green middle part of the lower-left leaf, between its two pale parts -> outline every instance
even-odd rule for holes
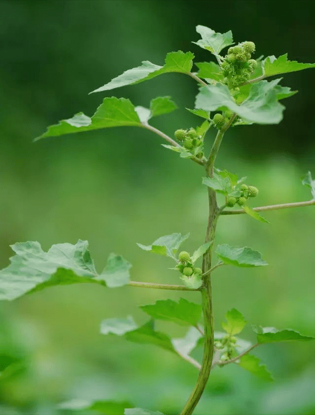
[[[148,343],[154,344],[156,346],[161,347],[162,349],[166,349],[170,352],[176,353],[171,339],[167,334],[156,332],[154,330],[154,323],[153,321],[149,321],[145,325],[139,327],[136,330],[131,332],[126,332],[124,337],[135,343]]]

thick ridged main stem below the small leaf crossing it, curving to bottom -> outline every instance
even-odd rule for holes
[[[205,242],[213,241],[215,227],[218,219],[218,206],[215,192],[208,188],[209,197],[209,217]],[[211,247],[203,255],[202,273],[208,273],[211,269]],[[213,312],[212,312],[212,293],[210,275],[203,278],[201,287],[202,311],[204,319],[204,349],[201,369],[197,379],[195,389],[189,397],[180,415],[191,415],[199,402],[202,392],[207,384],[213,359]]]

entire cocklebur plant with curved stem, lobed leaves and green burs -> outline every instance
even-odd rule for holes
[[[109,83],[95,89],[102,92],[119,86],[140,83],[158,75],[178,72],[197,81],[199,91],[194,109],[191,113],[203,121],[197,126],[184,129],[178,126],[174,138],[149,124],[153,117],[168,114],[177,108],[169,96],[160,96],[151,100],[150,108],[134,106],[129,99],[106,97],[90,118],[78,113],[70,119],[51,125],[37,139],[60,136],[80,131],[89,131],[114,126],[137,126],[156,133],[168,144],[166,149],[179,153],[181,158],[191,159],[204,169],[202,184],[208,192],[209,215],[205,242],[193,253],[180,251],[181,245],[189,237],[173,233],[158,238],[151,245],[138,244],[139,248],[148,252],[167,256],[173,261],[173,270],[177,273],[179,285],[145,283],[130,280],[131,264],[120,255],[111,253],[106,267],[98,273],[88,251],[86,241],[76,245],[53,245],[44,252],[38,242],[17,243],[12,246],[15,256],[11,264],[0,271],[0,298],[13,300],[21,295],[59,284],[94,283],[109,288],[129,285],[162,290],[198,291],[201,304],[192,303],[181,298],[158,300],[155,304],[142,306],[142,310],[150,316],[150,320],[139,327],[131,316],[126,319],[106,319],[101,323],[101,333],[116,334],[125,339],[150,343],[166,349],[194,365],[199,374],[196,386],[188,398],[181,415],[193,413],[207,383],[210,371],[215,366],[223,367],[235,363],[243,369],[267,381],[272,380],[265,365],[250,352],[260,344],[289,341],[312,340],[313,337],[302,335],[293,330],[276,330],[271,327],[253,327],[257,336],[255,344],[239,337],[246,325],[242,314],[235,308],[226,313],[226,322],[222,323],[223,332],[214,332],[211,277],[213,272],[226,265],[236,267],[266,266],[262,255],[248,247],[231,247],[228,244],[214,248],[216,225],[219,218],[225,215],[246,213],[256,220],[269,223],[259,212],[283,208],[315,205],[315,180],[311,172],[302,183],[311,190],[311,199],[306,202],[293,202],[281,205],[250,207],[251,201],[258,197],[259,190],[245,178],[238,178],[227,169],[215,166],[216,157],[225,132],[230,127],[249,124],[278,124],[282,120],[284,106],[280,100],[294,95],[279,83],[281,78],[267,81],[266,78],[302,69],[314,68],[315,64],[289,61],[287,55],[278,58],[268,56],[254,59],[256,46],[253,42],[241,42],[234,45],[232,32],[215,33],[205,26],[197,26],[201,36],[196,43],[210,52],[217,61],[195,63],[198,70],[192,72],[194,54],[192,52],[170,52],[166,55],[162,66],[149,61],[127,70]],[[234,46],[233,46],[234,45]],[[221,54],[228,48],[225,55]],[[206,133],[210,128],[217,130],[208,157],[204,155]],[[218,206],[217,195],[223,195],[224,202]],[[224,220],[224,218],[222,218]],[[213,254],[217,257],[212,264]],[[202,257],[202,267],[197,260]],[[203,314],[203,327],[200,324]],[[155,330],[154,321],[165,320],[189,327],[186,337],[171,339],[168,335]],[[202,362],[191,357],[197,345],[203,346]],[[92,409],[93,403],[85,409]],[[102,402],[102,410],[113,402]],[[162,415],[132,405],[117,403],[116,413],[124,415]],[[71,408],[69,406],[61,406]],[[112,408],[112,407],[111,407]],[[81,408],[82,409],[82,408]],[[211,410],[209,410],[211,414]]]

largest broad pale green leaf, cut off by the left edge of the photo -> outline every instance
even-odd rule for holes
[[[99,276],[87,241],[79,240],[76,245],[56,244],[48,252],[44,252],[38,242],[18,243],[11,247],[16,255],[10,258],[11,264],[0,271],[1,300],[13,300],[27,292],[55,285],[97,283],[105,286],[107,279],[110,287],[119,287],[128,282],[126,267],[130,268],[130,264],[115,254],[110,257],[111,261],[120,260],[112,261],[110,272]],[[122,263],[125,267],[123,275]]]

